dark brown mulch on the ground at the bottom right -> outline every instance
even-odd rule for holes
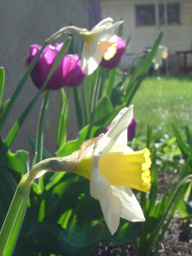
[[[134,244],[116,245],[100,242],[99,246],[90,256],[133,256]],[[154,250],[151,256],[154,255]],[[179,215],[175,215],[164,240],[160,243],[158,256],[190,256],[192,255],[192,228],[187,221],[181,221]]]

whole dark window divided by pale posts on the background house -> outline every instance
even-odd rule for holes
[[[159,23],[164,24],[164,5],[158,5]],[[155,25],[155,6],[154,4],[136,5],[135,6],[136,26]],[[180,24],[180,4],[167,4],[167,23]]]

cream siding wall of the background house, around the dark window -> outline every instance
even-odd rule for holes
[[[127,53],[137,53],[145,47],[152,46],[159,33],[163,32],[161,44],[169,48],[169,70],[178,72],[178,64],[181,57],[176,56],[179,50],[192,49],[192,0],[167,0],[167,3],[180,3],[180,24],[163,26],[136,26],[135,5],[154,4],[154,0],[101,0],[102,16],[112,17],[115,21],[123,18],[123,38],[131,35],[131,42]],[[158,0],[163,3],[163,0]],[[188,62],[192,63],[192,56],[188,56]]]

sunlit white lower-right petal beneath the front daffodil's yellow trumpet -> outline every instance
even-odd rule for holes
[[[129,187],[111,186],[111,189],[113,195],[116,195],[122,202],[121,218],[128,221],[145,221],[140,204]]]

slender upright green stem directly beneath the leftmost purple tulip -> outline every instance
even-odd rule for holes
[[[35,152],[37,152],[37,159],[36,163],[39,163],[42,161],[43,158],[43,128],[44,128],[44,119],[45,119],[45,113],[49,102],[49,90],[44,91],[44,100],[41,105],[41,111],[39,114],[39,120],[38,120],[38,129],[37,129],[37,140],[36,140],[36,148]]]

